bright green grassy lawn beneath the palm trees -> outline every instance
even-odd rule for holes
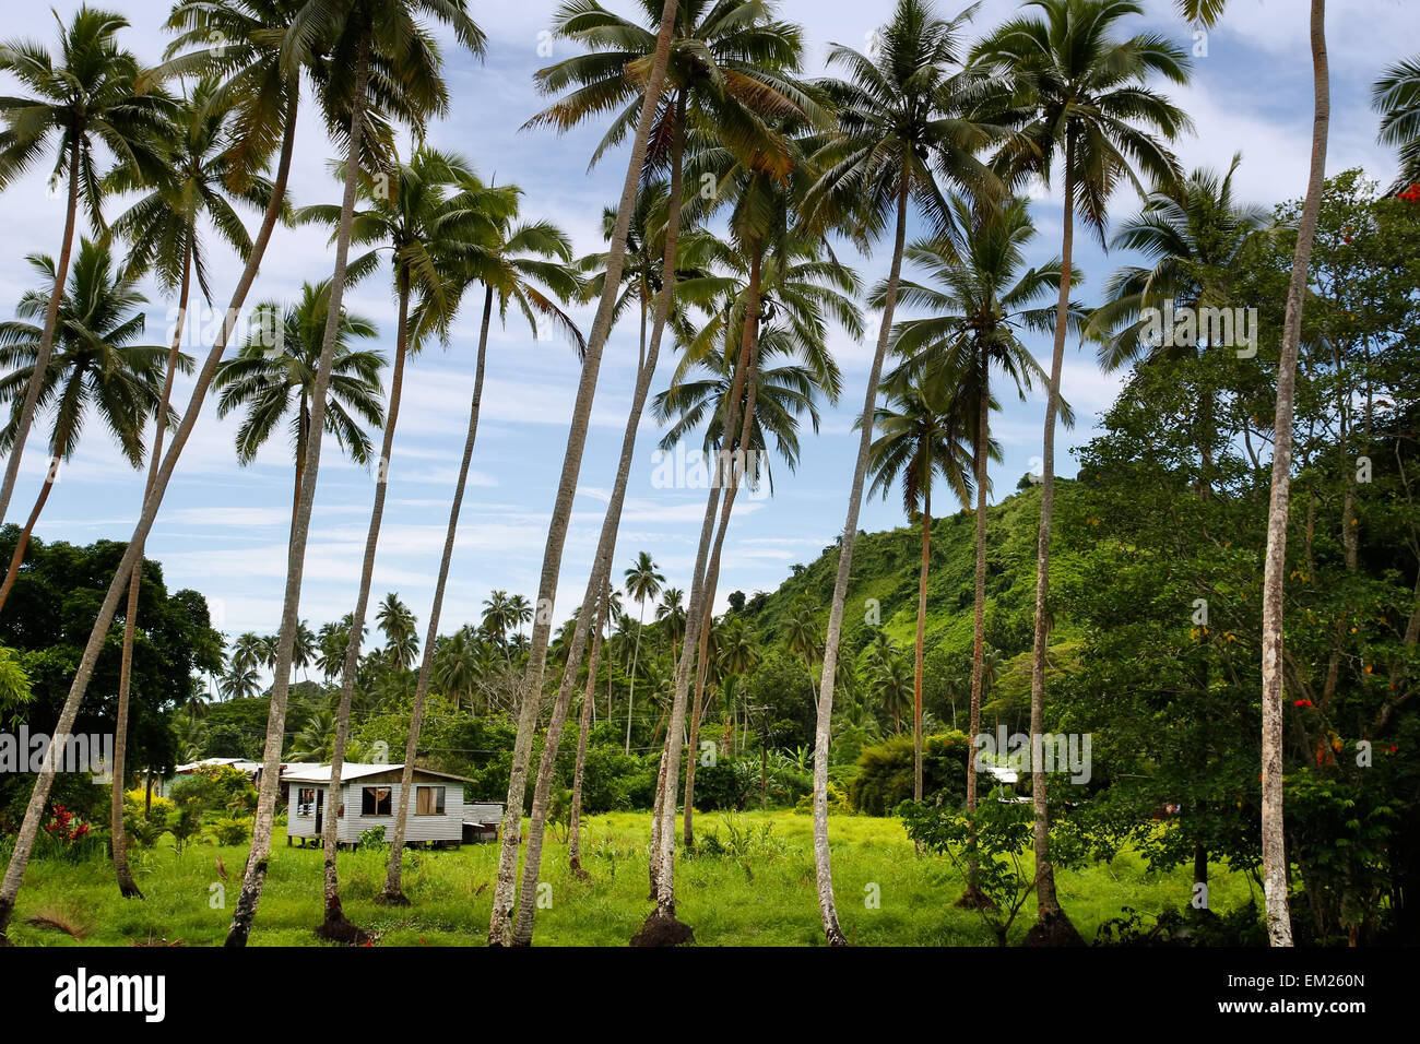
[[[648,812],[616,812],[591,818],[584,830],[588,882],[567,868],[567,847],[548,838],[544,881],[551,885],[551,908],[538,910],[540,945],[621,946],[649,910],[646,902]],[[677,855],[680,919],[694,928],[706,946],[798,946],[822,942],[814,891],[812,822],[792,812],[696,815],[696,834],[747,838],[743,855]],[[897,820],[834,817],[834,882],[839,918],[848,937],[868,946],[990,946],[994,936],[971,910],[953,902],[961,883],[940,857],[917,858]],[[187,946],[220,945],[236,902],[244,847],[190,845],[178,855],[168,838],[136,854],[135,871],[148,896],[125,901],[106,862],[36,861],[20,893],[11,939],[27,946],[126,946],[133,940],[180,939]],[[222,882],[217,858],[226,865]],[[386,946],[481,945],[488,926],[497,845],[466,845],[459,851],[406,855],[405,889],[413,906],[385,909],[372,898],[385,878],[385,854],[342,852],[339,857],[346,915],[378,935]],[[224,883],[227,909],[216,903],[213,886]],[[870,885],[878,909],[865,902]],[[1061,902],[1085,939],[1100,922],[1133,906],[1146,915],[1187,901],[1189,869],[1147,874],[1133,852],[1082,872],[1058,872]],[[1241,874],[1214,868],[1213,908],[1231,909],[1248,899]],[[55,912],[80,922],[82,940],[27,923]],[[321,854],[287,848],[278,828],[271,872],[263,893],[251,943],[256,946],[317,945],[311,928],[321,916]],[[1017,919],[1011,942],[1030,928],[1034,908]]]

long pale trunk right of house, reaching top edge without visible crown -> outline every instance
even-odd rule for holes
[[[666,67],[670,62],[670,40],[674,31],[676,0],[665,0],[660,13],[660,30],[656,36],[656,57],[650,77],[646,81],[646,95],[640,116],[636,121],[636,136],[632,142],[630,159],[626,163],[626,180],[622,183],[621,200],[616,205],[616,227],[606,254],[606,276],[602,298],[596,305],[591,337],[586,342],[586,357],[582,361],[582,376],[577,386],[577,403],[572,423],[567,435],[567,453],[562,459],[562,474],[558,480],[557,500],[552,504],[552,518],[547,531],[547,545],[542,551],[542,574],[538,580],[537,615],[532,622],[532,641],[528,649],[527,673],[523,682],[523,706],[518,709],[518,732],[513,744],[513,767],[508,774],[508,798],[503,817],[503,851],[498,855],[498,878],[493,889],[493,915],[488,920],[488,945],[503,946],[511,939],[514,893],[517,889],[518,842],[523,828],[523,800],[527,788],[528,763],[532,754],[532,733],[537,729],[538,703],[542,693],[542,672],[547,666],[547,643],[552,629],[552,599],[557,594],[557,580],[562,564],[562,545],[567,543],[567,527],[572,516],[572,499],[577,493],[577,479],[582,467],[582,450],[586,446],[586,429],[592,416],[592,399],[596,395],[596,376],[601,372],[602,349],[611,332],[612,310],[621,286],[622,266],[626,260],[626,233],[630,229],[630,214],[636,205],[636,186],[646,161],[646,142],[650,124],[660,105],[660,92],[666,81]]]

